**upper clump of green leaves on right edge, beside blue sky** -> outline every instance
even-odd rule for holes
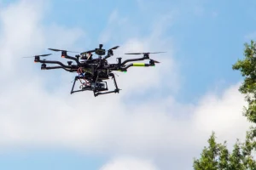
[[[256,43],[251,41],[245,43],[245,59],[238,59],[233,70],[241,71],[244,77],[239,91],[246,95],[247,107],[244,107],[243,115],[247,116],[250,122],[256,123]]]

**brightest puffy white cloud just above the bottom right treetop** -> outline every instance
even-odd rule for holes
[[[242,105],[246,105],[244,96],[238,91],[239,84],[224,91],[221,97],[208,94],[201,99],[200,107],[197,108],[195,121],[198,128],[209,132],[214,129],[221,139],[229,141],[236,136],[244,138],[247,129],[247,121],[241,116]],[[234,131],[233,128],[236,127]],[[233,139],[233,142],[234,139]]]

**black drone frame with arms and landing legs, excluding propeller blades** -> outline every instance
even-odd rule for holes
[[[112,50],[112,49],[110,49]],[[93,51],[92,51],[93,52]],[[112,51],[111,51],[112,52]],[[42,60],[40,59],[39,56],[35,56],[34,62],[35,63],[42,63],[41,65],[41,70],[53,70],[53,69],[63,69],[65,71],[69,71],[69,72],[75,72],[78,71],[80,67],[83,68],[88,68],[91,69],[92,75],[94,75],[95,71],[98,69],[98,66],[101,66],[102,70],[108,70],[110,71],[108,73],[108,77],[112,77],[113,79],[113,84],[115,86],[115,89],[112,91],[108,91],[108,83],[106,82],[106,90],[97,90],[96,86],[92,89],[80,89],[80,90],[73,90],[76,81],[78,81],[79,79],[84,79],[84,77],[79,77],[76,76],[74,78],[73,81],[73,88],[71,90],[71,94],[77,93],[77,92],[82,92],[82,91],[93,91],[94,96],[98,96],[98,95],[102,95],[102,94],[112,94],[112,93],[119,93],[119,88],[116,82],[116,79],[113,75],[113,73],[111,71],[127,71],[128,68],[130,68],[131,66],[154,66],[155,62],[159,63],[158,61],[155,61],[154,59],[149,59],[149,55],[148,53],[143,54],[143,57],[140,58],[135,58],[135,59],[126,59],[125,61],[122,62],[122,58],[117,58],[118,59],[118,63],[117,64],[108,64],[108,65],[101,65],[102,63],[104,63],[106,61],[106,59],[108,59],[109,57],[111,57],[113,55],[112,53],[109,53],[105,56],[105,57],[100,57],[97,59],[87,59],[84,60],[84,62],[80,62],[79,61],[79,57],[80,55],[76,55],[75,57],[69,56],[67,55],[67,51],[61,51],[61,57],[62,58],[66,58],[66,59],[72,59],[77,65],[72,65],[73,61],[67,61],[67,65],[64,65],[63,63],[61,63],[61,61],[55,61],[55,60]],[[149,59],[149,64],[146,63],[130,63],[130,62],[134,62],[134,61],[142,61],[145,59]],[[89,63],[92,62],[92,63]],[[95,63],[94,63],[95,62]],[[128,64],[130,63],[130,64]],[[46,64],[56,64],[59,66],[47,66]],[[95,65],[98,64],[98,65]],[[128,64],[128,65],[127,65]],[[99,75],[96,76],[96,82],[94,82],[95,84],[98,82],[98,78]],[[102,91],[108,91],[108,92],[102,92]]]

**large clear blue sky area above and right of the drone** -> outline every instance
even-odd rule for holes
[[[97,44],[113,10],[128,18],[142,37],[148,35],[154,18],[177,11],[172,25],[163,34],[173,39],[176,48],[174,58],[182,65],[184,82],[177,98],[191,101],[215,86],[225,88],[239,80],[240,75],[232,71],[231,65],[242,57],[243,43],[249,41],[245,37],[254,32],[255,5],[253,1],[142,1],[142,4],[137,1],[54,1],[45,22],[84,28],[90,44]],[[129,26],[113,27],[120,30],[116,43],[124,42],[129,35],[136,36],[134,32],[129,34]],[[125,34],[127,30],[128,36]],[[81,43],[83,41],[86,42],[82,39]]]

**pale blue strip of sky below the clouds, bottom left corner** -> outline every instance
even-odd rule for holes
[[[68,150],[32,150],[0,156],[1,169],[99,169],[105,158]]]

